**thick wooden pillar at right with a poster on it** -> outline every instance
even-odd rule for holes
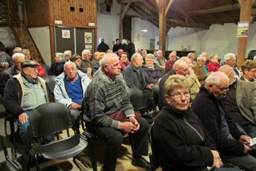
[[[238,0],[238,1],[241,6],[240,21],[250,22],[252,6],[255,0]],[[247,49],[247,39],[248,37],[238,37],[238,44],[237,44],[237,65],[238,66],[241,66],[241,64],[244,62],[246,49]]]

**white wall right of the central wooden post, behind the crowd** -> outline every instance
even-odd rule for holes
[[[248,53],[256,49],[256,23],[250,26]],[[168,33],[168,50],[182,50],[182,46],[187,50],[196,51],[197,55],[206,51],[209,55],[216,53],[223,57],[225,53],[237,53],[237,24],[214,24],[210,30],[200,30],[198,28],[171,28]]]

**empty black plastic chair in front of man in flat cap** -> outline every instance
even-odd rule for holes
[[[87,134],[77,134],[46,145],[33,145],[33,138],[43,138],[74,126],[69,109],[60,103],[51,102],[33,109],[28,133],[31,137],[31,150],[28,157],[28,170],[31,156],[35,159],[36,169],[40,170],[37,157],[45,159],[68,159],[76,156],[87,147]]]

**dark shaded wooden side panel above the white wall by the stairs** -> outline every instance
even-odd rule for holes
[[[50,24],[49,1],[26,0],[25,3],[28,27],[48,26]]]

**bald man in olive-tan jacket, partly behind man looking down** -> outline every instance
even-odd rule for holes
[[[235,78],[235,72],[228,65],[219,71],[228,75],[230,86],[223,98],[228,115],[238,123],[250,137],[256,137],[256,84]]]

